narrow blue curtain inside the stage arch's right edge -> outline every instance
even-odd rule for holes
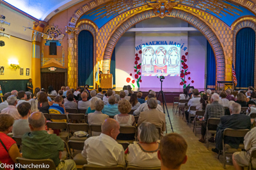
[[[207,89],[215,89],[216,84],[216,60],[210,43],[207,41]]]

